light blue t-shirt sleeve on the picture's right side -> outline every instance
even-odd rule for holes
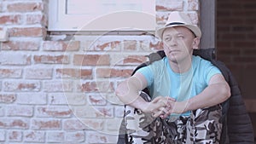
[[[206,71],[205,71],[204,75],[205,75],[205,79],[206,79],[207,84],[209,84],[212,76],[214,76],[215,74],[221,74],[218,67],[213,66],[210,61],[206,62],[205,68],[206,68]]]

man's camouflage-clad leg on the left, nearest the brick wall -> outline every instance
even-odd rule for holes
[[[143,97],[146,101],[150,98]],[[125,107],[127,139],[131,144],[172,144],[177,137],[177,122],[153,118],[134,107]]]

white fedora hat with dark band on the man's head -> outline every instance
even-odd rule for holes
[[[196,25],[193,25],[192,21],[189,19],[189,16],[187,14],[178,11],[173,11],[171,14],[169,14],[168,20],[166,21],[166,25],[156,31],[156,37],[160,37],[161,39],[165,29],[174,26],[187,27],[189,30],[191,30],[191,32],[194,32],[196,37],[201,37],[200,28]]]

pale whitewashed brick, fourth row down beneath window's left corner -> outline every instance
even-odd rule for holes
[[[72,81],[45,81],[44,91],[45,92],[63,92],[72,91],[73,83]]]

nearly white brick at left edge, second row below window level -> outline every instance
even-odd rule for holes
[[[25,54],[20,54],[20,53],[5,53],[1,52],[0,54],[0,63],[1,65],[6,65],[6,66],[26,66],[31,64],[31,56],[30,55],[25,55]],[[14,59],[15,57],[15,59]]]

